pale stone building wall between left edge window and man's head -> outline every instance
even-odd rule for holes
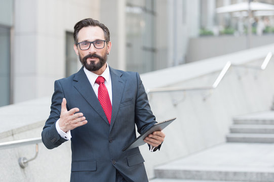
[[[76,22],[90,17],[100,18],[98,0],[15,0],[14,103],[52,93],[54,80],[65,76],[65,33],[73,32]]]

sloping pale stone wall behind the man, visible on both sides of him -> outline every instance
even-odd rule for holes
[[[232,64],[260,65],[274,44],[226,56],[142,74],[146,89],[166,86],[201,87],[212,85],[227,61]],[[149,95],[151,109],[158,121],[177,117],[164,129],[166,140],[161,151],[141,152],[149,178],[153,167],[225,142],[232,117],[269,110],[274,95],[274,58],[264,71],[231,67],[219,86],[211,92],[154,93]],[[240,77],[240,79],[239,79]],[[203,96],[210,94],[206,100]],[[176,106],[173,101],[177,101]],[[50,98],[0,108],[0,142],[40,136],[49,115]],[[37,159],[21,169],[19,157],[34,155],[34,145],[0,150],[0,171],[5,181],[68,181],[69,142],[54,150],[39,145]],[[45,173],[47,171],[47,173]],[[3,177],[4,176],[4,177]]]

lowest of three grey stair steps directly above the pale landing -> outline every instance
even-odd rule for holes
[[[241,143],[274,143],[274,134],[230,133],[226,135],[226,141]]]

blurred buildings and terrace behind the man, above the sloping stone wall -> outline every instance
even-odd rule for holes
[[[266,7],[251,15],[229,7],[247,2],[1,0],[0,106],[48,96],[54,80],[79,70],[72,35],[79,20],[110,29],[113,68],[145,73],[273,42],[274,2],[253,1]]]

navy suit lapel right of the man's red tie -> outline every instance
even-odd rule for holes
[[[112,113],[109,131],[111,131],[112,126],[116,120],[122,96],[125,89],[126,80],[122,79],[122,73],[109,67],[111,85],[112,85]]]

